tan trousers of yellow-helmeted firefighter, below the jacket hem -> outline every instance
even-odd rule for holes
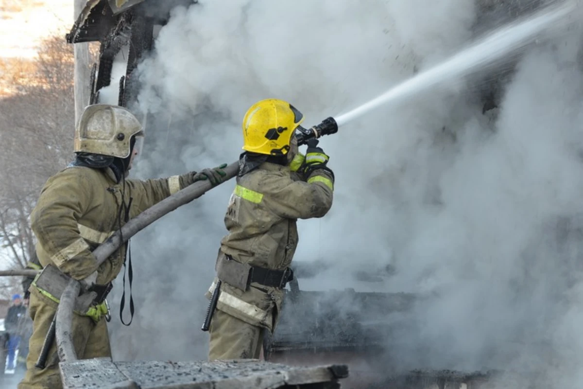
[[[259,359],[264,331],[264,328],[215,310],[209,328],[209,360]]]

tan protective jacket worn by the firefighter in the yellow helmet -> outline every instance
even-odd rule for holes
[[[223,281],[217,309],[272,331],[283,300],[282,289],[257,282],[246,290],[237,288],[229,281],[229,274],[222,275],[219,264],[227,258],[252,267],[286,269],[298,244],[296,220],[326,215],[332,198],[333,174],[325,169],[303,177],[291,172],[289,166],[264,162],[237,177],[224,218],[229,234],[221,241],[217,259],[217,276]],[[213,282],[207,297],[215,285]]]

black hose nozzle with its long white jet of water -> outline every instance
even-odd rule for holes
[[[543,30],[553,25],[560,25],[557,22],[572,15],[577,8],[578,1],[576,0],[554,2],[539,12],[500,27],[440,64],[399,83],[387,92],[347,113],[338,115],[336,118],[326,118],[321,124],[310,129],[298,127],[299,133],[296,135],[298,145],[305,144],[311,138],[335,134],[338,132],[338,127],[383,104],[406,99],[442,82],[466,76],[473,71],[491,65],[505,55],[524,48]]]

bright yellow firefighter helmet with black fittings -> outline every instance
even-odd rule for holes
[[[253,104],[243,119],[243,150],[266,155],[286,155],[291,137],[304,115],[290,103],[266,99]]]

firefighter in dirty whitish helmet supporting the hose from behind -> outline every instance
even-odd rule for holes
[[[41,191],[31,226],[38,240],[38,260],[46,274],[37,276],[29,288],[33,334],[27,371],[18,386],[21,389],[62,387],[56,342],[45,367],[35,366],[64,289],[51,275],[59,278],[62,272],[82,285],[72,327],[78,357],[110,357],[105,298],[124,265],[126,247],[99,267],[92,250],[129,219],[187,185],[198,180],[216,185],[225,176],[222,165],[170,178],[126,179],[138,153],[136,138],[141,135],[142,125],[127,109],[106,104],[87,107],[75,131],[75,160],[49,178]],[[98,293],[97,299],[83,299],[92,296],[86,293],[89,290]]]

